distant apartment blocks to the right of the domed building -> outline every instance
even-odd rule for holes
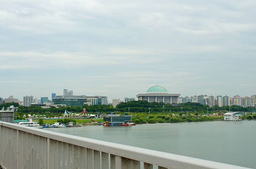
[[[207,95],[200,95],[200,96],[192,96],[192,97],[180,97],[179,103],[200,103],[200,104],[207,104],[210,107],[218,105],[219,107],[223,106],[243,106],[243,107],[256,107],[256,94],[251,97],[240,97],[238,95],[234,97],[225,96],[207,96]]]

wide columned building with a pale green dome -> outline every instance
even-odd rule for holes
[[[146,94],[138,94],[138,100],[146,100],[148,102],[164,102],[164,103],[179,103],[180,94],[168,94],[164,87],[159,85],[150,87]]]

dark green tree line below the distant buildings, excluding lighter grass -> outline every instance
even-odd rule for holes
[[[9,107],[10,105],[14,105],[15,107],[18,107],[18,111],[16,114],[54,114],[55,116],[61,115],[65,112],[65,109],[69,112],[74,113],[81,113],[82,110],[85,108],[88,113],[106,113],[106,112],[150,112],[151,113],[158,113],[158,112],[200,112],[200,113],[207,113],[208,112],[219,112],[219,111],[241,111],[241,112],[256,112],[255,107],[241,107],[241,106],[224,106],[224,107],[209,107],[209,105],[202,105],[199,103],[182,103],[179,104],[180,107],[174,107],[172,104],[165,104],[164,102],[147,102],[144,100],[138,100],[138,101],[131,101],[126,103],[120,103],[115,108],[113,108],[112,105],[91,105],[88,106],[84,104],[83,107],[59,107],[56,108],[54,106],[50,107],[49,109],[43,109],[40,106],[20,106],[18,103],[4,103],[0,104],[0,109],[2,107]]]

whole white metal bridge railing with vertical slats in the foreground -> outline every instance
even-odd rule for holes
[[[246,169],[203,159],[0,122],[7,169]]]

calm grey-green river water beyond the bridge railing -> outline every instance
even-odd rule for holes
[[[256,120],[136,126],[84,126],[47,130],[256,168]]]

